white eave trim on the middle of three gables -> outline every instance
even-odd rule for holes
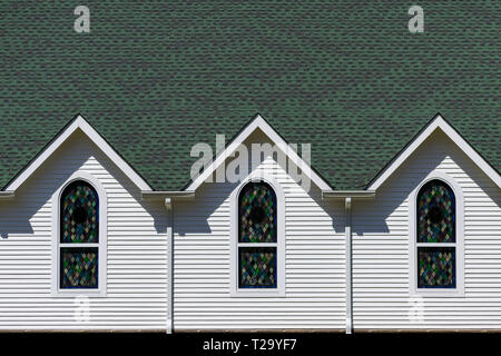
[[[328,184],[321,178],[303,158],[293,149],[288,149],[287,142],[275,131],[275,129],[261,116],[257,115],[245,129],[235,137],[235,139],[220,151],[216,159],[205,169],[186,190],[196,190],[214,171],[219,167],[227,157],[230,157],[234,151],[242,145],[256,129],[261,129],[287,157],[305,172],[308,178],[322,190],[330,190]]]

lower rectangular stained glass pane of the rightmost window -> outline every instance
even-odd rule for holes
[[[455,248],[419,247],[418,248],[418,287],[454,288],[455,287]]]

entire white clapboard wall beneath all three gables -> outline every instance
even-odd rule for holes
[[[254,135],[247,141],[259,142]],[[271,157],[257,168],[285,194],[285,297],[230,297],[229,196],[204,184],[175,202],[175,330],[344,329],[343,201],[305,191]],[[465,295],[423,297],[410,318],[409,195],[433,169],[452,176],[464,201]],[[70,297],[51,297],[51,196],[76,170],[108,195],[107,297],[90,322]],[[354,328],[501,328],[501,191],[443,134],[435,134],[381,188],[353,205]],[[17,194],[0,200],[0,329],[165,329],[166,209],[138,189],[81,134],[73,135]]]

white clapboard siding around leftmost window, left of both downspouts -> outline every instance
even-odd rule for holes
[[[72,297],[51,296],[52,194],[76,170],[108,196],[107,296],[90,297],[78,322]],[[102,152],[75,134],[16,195],[0,201],[1,329],[164,329],[166,210],[140,192]]]

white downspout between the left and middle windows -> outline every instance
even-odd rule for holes
[[[171,198],[165,199],[167,208],[167,323],[166,333],[173,334],[173,315],[174,315],[174,209]]]

